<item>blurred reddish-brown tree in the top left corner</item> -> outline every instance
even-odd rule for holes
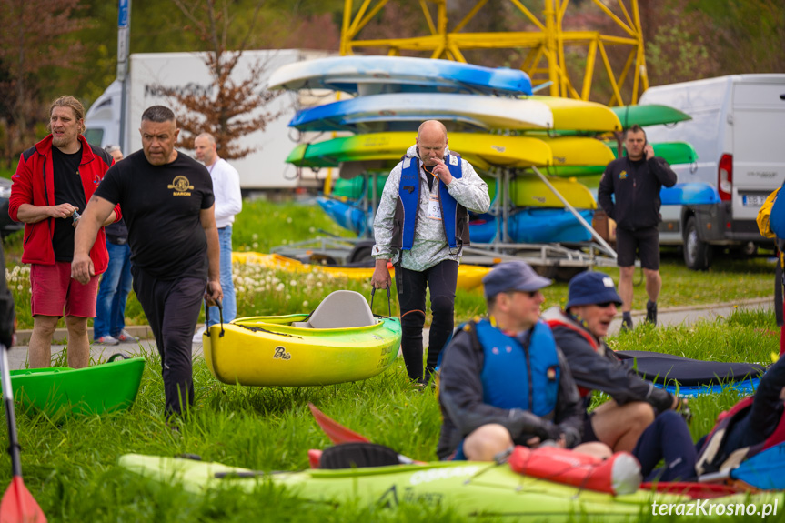
[[[3,152],[7,165],[35,136],[44,118],[41,93],[53,68],[72,68],[82,45],[63,36],[87,25],[76,17],[80,0],[0,0],[0,97],[5,126]]]

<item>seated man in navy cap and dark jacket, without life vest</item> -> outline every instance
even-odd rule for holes
[[[553,330],[556,344],[569,362],[583,398],[584,441],[601,441],[614,451],[635,448],[640,435],[660,412],[679,405],[679,397],[654,387],[622,366],[605,344],[608,328],[621,298],[613,279],[599,272],[583,272],[569,281],[565,310],[551,307],[543,319]],[[592,390],[612,399],[589,415]]]

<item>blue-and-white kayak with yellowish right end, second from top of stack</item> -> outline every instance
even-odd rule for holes
[[[298,111],[289,126],[300,131],[417,131],[429,119],[440,120],[450,131],[553,126],[548,106],[534,100],[448,93],[359,96]]]

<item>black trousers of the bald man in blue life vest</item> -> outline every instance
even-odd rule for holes
[[[398,267],[396,267],[398,270]],[[400,269],[403,273],[402,289],[398,289],[400,302],[401,352],[410,379],[422,379],[422,327],[425,325],[426,287],[430,290],[430,308],[433,321],[428,335],[428,358],[425,379],[436,368],[438,355],[455,327],[455,287],[458,282],[458,262],[444,260],[424,271]]]

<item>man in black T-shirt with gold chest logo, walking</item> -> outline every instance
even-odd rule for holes
[[[142,114],[142,150],[110,169],[87,203],[72,267],[77,280],[90,277],[98,225],[116,203],[128,209],[134,291],[156,336],[169,414],[194,400],[191,337],[202,297],[210,305],[223,297],[212,180],[175,149],[179,131],[165,106]]]

